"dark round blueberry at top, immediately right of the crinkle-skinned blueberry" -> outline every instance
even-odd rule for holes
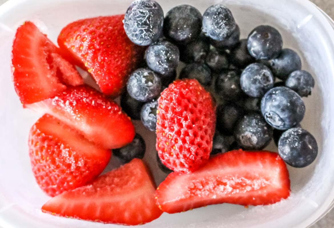
[[[193,6],[179,5],[166,14],[164,34],[176,42],[188,43],[201,32],[202,14]]]

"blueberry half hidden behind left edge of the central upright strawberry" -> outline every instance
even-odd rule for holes
[[[140,113],[143,125],[152,132],[155,131],[157,126],[157,110],[158,101],[152,100],[144,104]]]

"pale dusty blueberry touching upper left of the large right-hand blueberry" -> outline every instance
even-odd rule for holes
[[[248,65],[241,73],[241,89],[251,97],[262,97],[274,86],[274,76],[270,69],[261,63]]]

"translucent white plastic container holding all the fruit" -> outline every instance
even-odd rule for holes
[[[3,228],[98,228],[119,227],[43,214],[41,205],[48,200],[30,171],[27,137],[36,113],[22,109],[11,82],[10,51],[15,29],[25,20],[35,22],[56,41],[67,23],[86,17],[122,14],[131,0],[10,0],[0,7],[0,226]],[[213,0],[161,0],[166,13],[178,4],[191,4],[203,12],[219,3]],[[302,126],[316,137],[319,156],[309,167],[289,167],[291,197],[271,206],[249,207],[212,205],[185,213],[169,215],[141,227],[223,228],[223,227],[302,227],[305,228],[331,206],[334,199],[334,30],[333,22],[316,6],[305,0],[230,0],[224,1],[241,28],[241,36],[257,25],[277,27],[284,46],[299,52],[303,69],[316,77],[312,96],[305,99],[307,111]],[[154,133],[136,123],[147,136],[145,160],[154,170],[157,182],[164,175],[155,163]],[[271,150],[277,150],[273,145]],[[108,169],[116,166],[111,161]],[[78,208],[80,210],[80,208]]]

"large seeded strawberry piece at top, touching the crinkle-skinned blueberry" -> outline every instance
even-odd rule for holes
[[[58,44],[73,62],[87,69],[103,93],[117,96],[129,74],[143,59],[143,48],[127,37],[124,14],[78,20],[68,24],[58,36]]]

